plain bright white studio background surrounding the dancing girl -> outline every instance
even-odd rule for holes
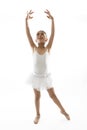
[[[31,34],[50,35],[49,9],[55,19],[51,71],[55,92],[70,114],[67,121],[47,92],[41,92],[41,120],[35,117],[34,94],[26,81],[32,51],[25,32],[27,10],[32,9]],[[87,3],[86,0],[0,1],[0,130],[87,129]]]

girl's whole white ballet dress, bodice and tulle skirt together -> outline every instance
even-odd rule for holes
[[[39,54],[37,51],[33,53],[33,73],[30,83],[38,91],[52,88],[51,74],[48,72],[48,56],[48,51],[44,54]]]

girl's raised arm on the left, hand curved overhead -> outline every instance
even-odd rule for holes
[[[29,40],[29,43],[32,47],[32,49],[34,49],[34,47],[36,46],[33,42],[33,39],[32,39],[32,36],[31,36],[31,33],[30,33],[30,28],[29,28],[29,22],[30,22],[30,19],[32,19],[33,17],[31,16],[33,14],[32,10],[30,10],[29,12],[27,12],[27,16],[25,18],[25,26],[26,26],[26,34],[27,34],[27,37],[28,37],[28,40]],[[29,22],[28,22],[29,21]]]

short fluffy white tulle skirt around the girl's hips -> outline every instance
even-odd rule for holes
[[[52,88],[52,78],[51,74],[31,74],[29,78],[29,83],[32,85],[33,89],[40,91],[41,89]]]

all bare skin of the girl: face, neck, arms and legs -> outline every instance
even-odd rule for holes
[[[27,34],[27,37],[28,37],[28,40],[29,40],[29,43],[30,43],[30,46],[31,46],[33,52],[34,52],[34,50],[36,50],[40,55],[42,55],[46,51],[50,52],[51,47],[52,47],[52,43],[53,43],[53,39],[54,39],[54,32],[55,32],[54,18],[51,15],[50,11],[48,11],[48,10],[44,11],[44,13],[47,15],[47,18],[49,20],[51,20],[51,35],[50,35],[50,38],[48,40],[46,37],[46,34],[43,31],[39,31],[36,35],[36,42],[38,43],[38,46],[36,46],[36,44],[33,41],[32,36],[31,36],[30,28],[29,28],[29,22],[33,18],[32,17],[33,13],[34,12],[32,10],[27,12],[27,16],[25,19],[26,34]],[[45,47],[45,43],[47,41],[48,41],[48,44]],[[48,92],[50,98],[54,101],[54,103],[60,109],[60,112],[66,117],[67,120],[70,120],[69,114],[65,111],[61,102],[57,98],[57,96],[54,92],[54,88],[51,87],[50,89],[47,89],[47,92]],[[39,119],[40,119],[40,95],[41,95],[41,93],[40,93],[40,91],[37,91],[36,89],[34,89],[34,94],[35,94],[35,107],[36,107],[36,117],[35,117],[34,123],[37,124],[39,122]]]

